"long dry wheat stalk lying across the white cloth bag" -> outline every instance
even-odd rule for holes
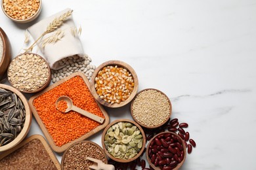
[[[62,14],[61,16],[54,18],[53,22],[51,22],[48,26],[45,32],[43,32],[43,34],[35,41],[33,42],[33,44],[30,46],[30,48],[28,48],[26,50],[26,52],[28,51],[32,51],[33,47],[35,46],[35,43],[37,41],[39,41],[43,36],[45,36],[47,33],[51,33],[53,31],[55,31],[56,29],[58,29],[58,27],[60,27],[63,22],[65,22],[66,20],[68,20],[68,17],[72,14],[73,10],[68,10],[68,12]]]

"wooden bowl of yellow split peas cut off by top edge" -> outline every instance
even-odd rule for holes
[[[5,15],[14,22],[32,22],[41,12],[41,0],[3,0],[1,7]]]

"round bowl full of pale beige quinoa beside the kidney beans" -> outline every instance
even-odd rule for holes
[[[131,116],[140,126],[153,129],[165,124],[171,116],[171,101],[165,93],[148,88],[135,95]]]

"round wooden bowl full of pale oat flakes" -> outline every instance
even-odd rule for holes
[[[12,59],[8,67],[11,85],[24,93],[36,93],[51,82],[49,63],[38,54],[25,53]]]

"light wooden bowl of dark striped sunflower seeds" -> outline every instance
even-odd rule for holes
[[[0,84],[0,152],[13,148],[28,134],[32,112],[18,90]]]

